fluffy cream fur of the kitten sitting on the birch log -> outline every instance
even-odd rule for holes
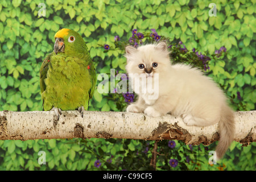
[[[126,47],[129,77],[133,75],[131,73],[153,77],[159,73],[159,97],[148,100],[147,93],[138,93],[138,100],[129,105],[127,111],[145,113],[151,117],[171,113],[182,117],[187,125],[208,126],[218,123],[220,142],[216,153],[220,159],[234,138],[234,113],[222,90],[209,77],[188,65],[172,65],[169,54],[165,42],[148,44],[138,49]],[[152,63],[158,63],[158,66],[153,68]],[[139,68],[139,64],[145,68]],[[146,73],[146,69],[152,72]]]

